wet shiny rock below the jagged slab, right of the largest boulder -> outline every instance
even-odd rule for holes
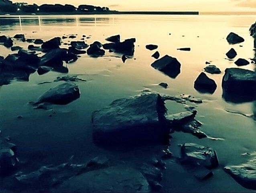
[[[215,168],[219,165],[215,150],[194,143],[185,143],[181,147],[182,162],[206,168]]]

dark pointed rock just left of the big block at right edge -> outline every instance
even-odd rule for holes
[[[200,92],[214,93],[217,85],[213,79],[210,79],[205,73],[201,72],[195,80],[194,88]]]

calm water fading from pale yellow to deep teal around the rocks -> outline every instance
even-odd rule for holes
[[[0,35],[11,37],[24,33],[26,38],[48,40],[64,34],[77,34],[79,40],[82,35],[91,35],[91,39],[87,39],[88,44],[96,40],[105,43],[104,39],[114,34],[120,34],[122,39],[136,38],[134,57],[125,63],[122,63],[121,55],[106,52],[104,57],[99,58],[81,55],[75,63],[68,64],[70,75],[78,75],[87,82],[77,83],[81,92],[78,100],[65,106],[53,106],[56,114],[52,117],[49,117],[51,111],[35,110],[28,102],[36,101],[39,95],[60,84],[38,83],[53,81],[63,74],[49,72],[39,76],[34,73],[30,75],[28,82],[12,81],[11,84],[0,87],[2,136],[10,136],[11,142],[18,147],[17,156],[25,163],[19,171],[26,173],[42,165],[60,164],[71,155],[74,155],[74,163],[84,163],[99,154],[108,156],[112,162],[123,161],[129,165],[151,158],[158,147],[146,146],[127,152],[95,146],[91,125],[93,111],[115,99],[150,89],[170,95],[185,93],[201,98],[203,104],[196,107],[197,120],[203,123],[201,130],[210,137],[219,138],[199,140],[191,134],[175,132],[170,145],[175,156],[179,156],[178,144],[195,142],[216,150],[219,167],[213,170],[214,177],[201,182],[183,166],[167,160],[167,170],[164,171],[161,183],[162,191],[250,192],[251,190],[240,186],[226,174],[223,167],[241,163],[242,153],[256,150],[254,119],[227,111],[250,116],[255,114],[256,102],[243,102],[242,98],[240,102],[227,102],[222,98],[221,79],[227,67],[236,67],[234,61],[225,59],[225,53],[231,47],[238,53],[235,59],[254,57],[253,39],[248,30],[255,18],[255,15],[98,15],[0,19]],[[245,42],[240,44],[243,47],[228,44],[226,36],[230,32],[244,37]],[[63,40],[67,43],[68,41],[70,39]],[[150,66],[154,61],[151,57],[154,51],[145,49],[145,45],[149,43],[158,45],[157,50],[161,56],[168,54],[180,61],[181,73],[175,79]],[[27,48],[28,43],[16,41],[16,45]],[[180,47],[191,47],[191,51],[178,51],[177,48]],[[9,53],[9,49],[0,45],[0,55],[5,57]],[[205,61],[212,61],[211,64],[222,71],[220,75],[207,74],[217,83],[213,94],[199,93],[193,88],[195,79],[206,66]],[[242,68],[255,70],[255,65]],[[160,82],[168,83],[169,87],[164,89],[158,86]],[[167,108],[170,113],[185,111],[182,104],[175,102],[167,102]],[[18,115],[22,115],[23,119],[17,119]],[[1,189],[8,189],[11,177],[2,179],[1,183]]]

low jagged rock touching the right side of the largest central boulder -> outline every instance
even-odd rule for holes
[[[191,133],[192,135],[197,136],[199,139],[205,138],[207,135],[199,130],[199,127],[202,124],[195,120],[196,114],[197,111],[194,110],[192,112],[169,114],[166,116],[166,118],[174,130]]]

